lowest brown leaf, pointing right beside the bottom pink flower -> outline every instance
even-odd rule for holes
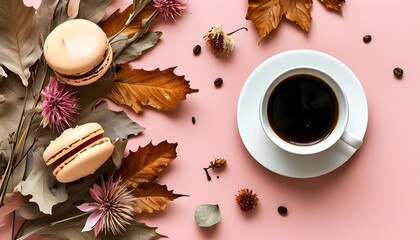
[[[136,213],[164,210],[174,199],[186,196],[169,191],[165,185],[149,182],[140,183],[132,194],[137,199],[134,203]]]

